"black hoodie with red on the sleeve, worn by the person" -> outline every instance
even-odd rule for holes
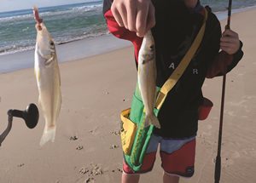
[[[156,48],[156,80],[157,86],[161,87],[193,43],[202,25],[204,10],[200,2],[195,9],[188,9],[181,0],[152,2],[156,20],[152,28]],[[110,10],[111,3],[111,0],[104,0],[103,13],[108,29],[116,37],[130,40],[134,44],[137,61],[142,38],[118,26]],[[231,59],[224,59],[224,52],[219,53],[221,27],[211,9],[207,8],[207,11],[207,26],[201,46],[160,109],[158,118],[161,129],[154,129],[154,133],[160,136],[180,139],[195,135],[198,108],[203,100],[201,87],[205,78],[221,76],[224,69],[230,71],[243,55],[241,48],[229,56]]]

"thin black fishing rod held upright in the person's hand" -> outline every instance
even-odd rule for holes
[[[228,20],[227,20],[227,25],[225,26],[225,30],[230,29],[231,9],[232,9],[232,0],[229,0]],[[222,129],[223,129],[223,117],[224,117],[225,88],[226,88],[226,71],[224,71],[224,77],[223,77],[223,83],[222,83],[221,107],[220,107],[219,129],[218,129],[218,153],[216,157],[215,173],[214,173],[215,183],[219,183],[220,174],[221,174],[221,143],[222,143]]]

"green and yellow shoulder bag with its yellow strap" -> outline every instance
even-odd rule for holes
[[[156,88],[157,100],[155,102],[154,115],[157,117],[160,108],[166,99],[168,92],[175,86],[178,79],[183,75],[183,71],[189,66],[190,60],[193,58],[196,50],[201,44],[202,37],[204,36],[207,21],[207,10],[205,9],[205,19],[201,30],[195,37],[188,52],[184,55],[183,60],[177,66],[172,75],[168,78],[162,88]],[[148,148],[148,142],[154,130],[154,126],[150,125],[144,128],[143,122],[145,114],[143,112],[144,105],[139,91],[135,89],[133,94],[131,108],[121,112],[121,142],[127,163],[135,172],[139,171],[143,164],[143,158]]]

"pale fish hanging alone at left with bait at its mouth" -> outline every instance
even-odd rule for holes
[[[33,8],[36,20],[37,42],[35,46],[34,71],[38,85],[38,104],[44,113],[44,133],[40,146],[55,141],[56,121],[61,112],[61,74],[55,43],[39,17],[38,8]]]

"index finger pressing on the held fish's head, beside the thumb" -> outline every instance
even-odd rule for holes
[[[143,9],[140,9],[137,12],[136,30],[137,30],[138,37],[143,37],[145,35],[147,18],[148,18],[148,6],[143,7]]]

